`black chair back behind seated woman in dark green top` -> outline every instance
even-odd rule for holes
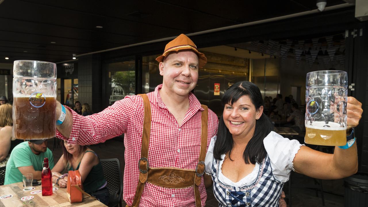
[[[123,177],[121,176],[120,161],[117,158],[101,159],[100,161],[110,193],[107,206],[117,206],[121,204],[121,195],[123,194]]]

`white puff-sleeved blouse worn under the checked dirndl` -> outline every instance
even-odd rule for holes
[[[206,174],[210,175],[213,161],[213,147],[215,146],[216,136],[212,137],[206,154],[205,164]],[[264,139],[266,152],[270,158],[272,173],[275,178],[281,182],[289,180],[290,171],[294,171],[293,160],[301,145],[297,140],[289,140],[282,137],[275,131],[271,131]],[[222,174],[221,166],[224,161],[225,154],[221,155],[222,160],[219,163],[219,180],[229,186],[243,187],[251,185],[258,176],[259,164],[256,163],[253,171],[238,182],[233,182]]]

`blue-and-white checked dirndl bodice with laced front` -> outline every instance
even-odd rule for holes
[[[282,192],[283,183],[277,181],[272,174],[269,157],[263,159],[259,166],[258,177],[250,186],[240,187],[240,191],[234,186],[228,186],[221,183],[218,179],[219,160],[213,159],[212,178],[215,180],[213,193],[219,206],[278,206],[279,198]]]

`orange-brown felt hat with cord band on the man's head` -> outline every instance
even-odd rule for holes
[[[165,51],[162,53],[161,56],[157,57],[156,60],[159,63],[163,62],[164,57],[168,56],[170,52],[173,51],[178,52],[179,50],[188,50],[188,49],[193,50],[194,52],[197,53],[199,59],[199,68],[204,67],[205,64],[207,63],[207,58],[205,54],[200,53],[197,50],[197,46],[195,46],[194,42],[184,34],[177,36],[177,38],[167,43]]]

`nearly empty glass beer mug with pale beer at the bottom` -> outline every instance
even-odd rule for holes
[[[305,143],[346,144],[347,73],[323,70],[307,73]]]

